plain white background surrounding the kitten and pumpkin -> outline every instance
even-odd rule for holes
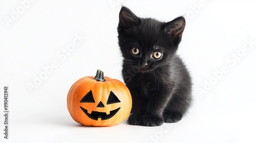
[[[23,6],[24,1],[0,1],[1,142],[256,142],[255,2],[121,1],[140,17],[186,17],[178,53],[193,77],[193,106],[180,122],[160,127],[126,121],[84,127],[69,115],[67,93],[76,80],[94,76],[97,69],[123,81],[120,1],[38,0]],[[80,34],[87,39],[65,59],[58,56]],[[246,41],[254,43],[250,47]],[[237,59],[232,57],[236,53]],[[57,67],[29,89],[52,62]],[[204,88],[207,82],[211,88]],[[2,134],[5,85],[10,91],[8,140]]]

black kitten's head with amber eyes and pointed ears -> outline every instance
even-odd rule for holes
[[[160,22],[139,18],[130,9],[122,7],[117,30],[123,65],[137,68],[142,73],[169,65],[184,28],[183,17]]]

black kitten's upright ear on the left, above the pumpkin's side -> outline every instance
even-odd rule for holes
[[[139,20],[129,8],[122,7],[119,13],[119,25],[123,27],[139,25]]]

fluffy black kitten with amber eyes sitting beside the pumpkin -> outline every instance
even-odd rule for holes
[[[191,80],[176,55],[185,19],[139,18],[126,7],[119,14],[122,76],[133,98],[129,124],[160,126],[181,120],[191,102]]]

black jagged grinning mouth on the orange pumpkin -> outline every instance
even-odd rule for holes
[[[115,110],[112,110],[110,111],[110,114],[106,114],[105,112],[97,112],[97,111],[92,111],[91,114],[88,113],[87,109],[84,109],[80,106],[80,108],[82,109],[82,111],[88,116],[90,117],[92,120],[98,120],[98,118],[101,118],[101,120],[107,120],[111,117],[113,117],[117,112],[118,110],[121,108],[117,108]]]

